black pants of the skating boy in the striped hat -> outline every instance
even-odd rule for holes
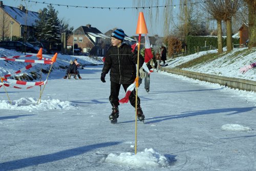
[[[127,87],[130,86],[130,84],[122,84],[124,91],[126,92]],[[110,103],[112,106],[118,106],[119,105],[119,99],[118,99],[118,95],[119,95],[119,90],[120,90],[121,84],[115,83],[115,82],[111,82],[110,83]],[[129,96],[129,101],[131,103],[131,105],[133,107],[135,107],[136,105],[136,91],[135,89],[131,92],[130,96]],[[137,107],[140,106],[140,98],[137,97]]]

